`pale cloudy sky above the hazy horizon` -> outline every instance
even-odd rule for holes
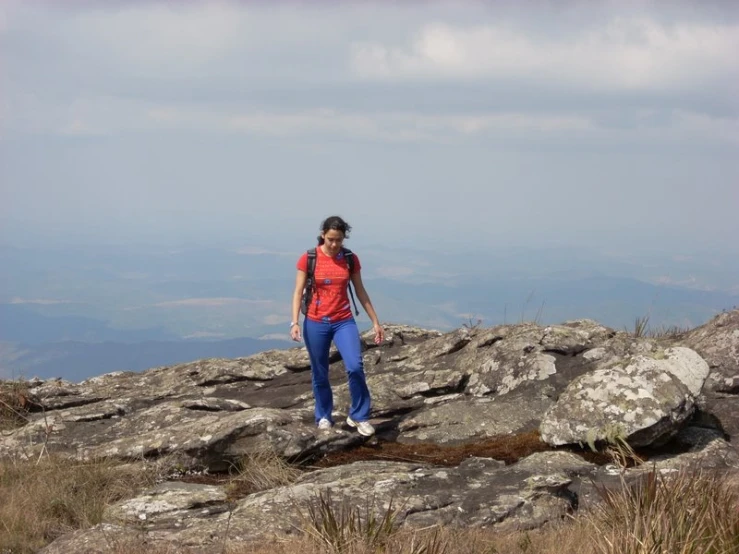
[[[736,52],[731,1],[3,0],[0,239],[739,254]]]

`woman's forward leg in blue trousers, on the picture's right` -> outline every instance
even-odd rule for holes
[[[349,417],[354,421],[367,421],[370,417],[371,399],[367,381],[364,376],[362,361],[362,345],[359,339],[359,330],[354,318],[339,321],[333,324],[334,344],[338,348],[346,366],[349,380],[349,394],[351,406]]]

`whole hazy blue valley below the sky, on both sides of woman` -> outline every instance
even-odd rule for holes
[[[591,318],[693,327],[739,305],[739,269],[556,249],[357,247],[385,322],[450,330]],[[296,255],[247,248],[0,248],[0,377],[81,380],[289,348]],[[733,264],[733,265],[732,265]],[[360,328],[369,327],[366,315]]]

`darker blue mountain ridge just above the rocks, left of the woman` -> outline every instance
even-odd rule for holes
[[[203,358],[249,356],[265,350],[289,348],[295,343],[288,340],[240,338],[137,343],[62,341],[4,346],[0,348],[0,378],[37,376],[81,381],[111,371],[142,371]]]

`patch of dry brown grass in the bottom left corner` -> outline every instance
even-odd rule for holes
[[[35,552],[67,531],[95,525],[108,504],[152,482],[146,471],[112,462],[0,460],[0,552]]]

